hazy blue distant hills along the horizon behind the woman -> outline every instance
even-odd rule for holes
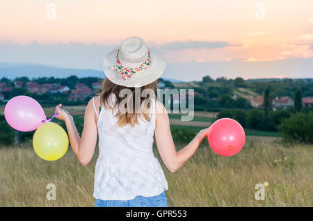
[[[105,78],[104,72],[95,69],[72,69],[33,63],[0,63],[0,78],[3,76],[8,79],[15,79],[19,76],[27,76],[29,79],[44,76],[64,78],[71,75],[78,77],[95,76],[102,79]],[[172,83],[182,82],[176,79],[163,79]]]

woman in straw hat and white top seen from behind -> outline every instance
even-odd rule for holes
[[[72,116],[61,104],[56,106],[82,165],[93,157],[99,136],[95,206],[167,206],[168,183],[152,152],[154,133],[170,172],[182,167],[207,136],[209,129],[200,131],[176,152],[166,108],[154,95],[164,68],[163,60],[150,53],[141,38],[127,38],[104,58],[102,93],[88,102],[81,137]]]

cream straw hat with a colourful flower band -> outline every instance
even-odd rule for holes
[[[129,37],[120,47],[106,54],[103,70],[115,84],[139,88],[159,79],[165,69],[163,60],[138,37]]]

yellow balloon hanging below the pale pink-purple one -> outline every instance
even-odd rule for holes
[[[33,135],[33,149],[45,161],[58,160],[67,152],[67,147],[67,133],[58,124],[42,124]]]

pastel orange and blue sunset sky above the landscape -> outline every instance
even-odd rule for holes
[[[101,69],[104,54],[131,35],[169,65],[307,63],[313,58],[313,1],[0,1],[0,63]],[[251,69],[235,71],[259,77]],[[313,76],[310,67],[296,74]],[[187,75],[181,79],[191,79]]]

